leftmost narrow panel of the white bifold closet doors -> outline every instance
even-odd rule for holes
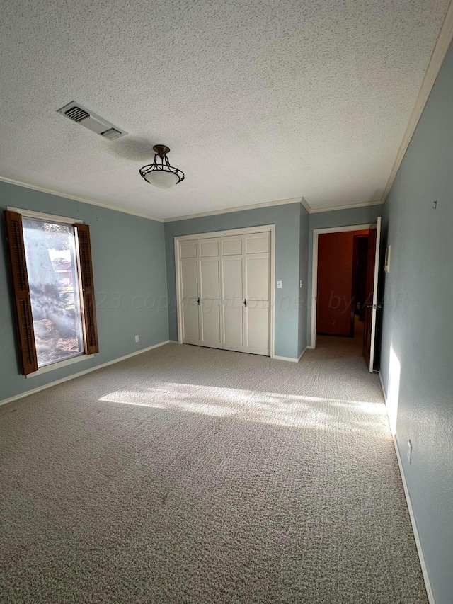
[[[180,275],[182,289],[183,342],[200,344],[197,241],[183,241],[183,243],[180,244]]]

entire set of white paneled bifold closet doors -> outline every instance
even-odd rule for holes
[[[183,342],[270,353],[270,233],[180,243]]]

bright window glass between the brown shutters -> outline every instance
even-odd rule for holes
[[[74,227],[23,217],[38,367],[84,353]]]

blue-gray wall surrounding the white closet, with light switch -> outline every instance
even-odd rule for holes
[[[174,237],[275,224],[275,280],[282,281],[282,289],[275,289],[275,354],[290,358],[299,356],[301,207],[300,203],[290,203],[165,223],[168,321],[171,340],[178,339]],[[303,341],[302,344],[303,349],[305,347]]]

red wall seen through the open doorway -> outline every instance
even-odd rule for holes
[[[354,236],[368,231],[322,233],[318,239],[316,332],[349,336]]]

